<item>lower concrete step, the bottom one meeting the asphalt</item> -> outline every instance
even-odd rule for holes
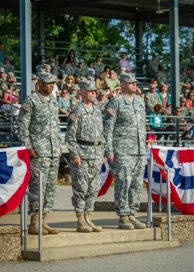
[[[23,257],[28,260],[37,260],[43,262],[51,260],[67,260],[84,257],[88,258],[141,251],[161,250],[173,247],[179,247],[179,241],[139,241],[127,243],[110,243],[103,245],[96,244],[74,247],[45,248],[42,251],[23,250]]]

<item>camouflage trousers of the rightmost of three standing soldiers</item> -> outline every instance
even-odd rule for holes
[[[115,210],[117,215],[136,214],[139,210],[145,171],[145,155],[117,155],[109,163],[115,179]]]

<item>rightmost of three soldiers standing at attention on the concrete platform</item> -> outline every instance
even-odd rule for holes
[[[105,155],[115,179],[115,209],[123,230],[146,228],[135,218],[146,163],[145,107],[134,94],[136,82],[133,73],[120,74],[122,93],[109,101],[103,117]]]

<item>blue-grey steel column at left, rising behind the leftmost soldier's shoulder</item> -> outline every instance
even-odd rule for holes
[[[32,50],[30,0],[20,0],[20,55],[23,102],[24,98],[31,94]]]

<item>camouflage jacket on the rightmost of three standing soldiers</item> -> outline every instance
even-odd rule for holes
[[[145,155],[145,120],[141,97],[134,94],[133,102],[123,93],[112,98],[103,118],[105,155]]]

